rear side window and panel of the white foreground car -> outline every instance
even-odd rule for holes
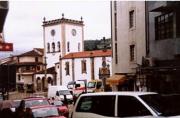
[[[114,118],[115,95],[83,96],[77,103],[73,118]]]

